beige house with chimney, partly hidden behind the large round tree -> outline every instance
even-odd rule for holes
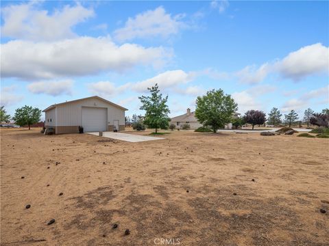
[[[240,113],[234,113],[233,117],[238,117]],[[197,121],[197,118],[195,118],[195,111],[191,112],[191,109],[186,109],[186,113],[183,115],[176,116],[174,118],[171,118],[170,121],[171,124],[175,124],[176,128],[182,128],[184,124],[189,124],[191,129],[197,129],[202,124],[200,124]],[[226,129],[232,129],[232,123],[226,124]]]

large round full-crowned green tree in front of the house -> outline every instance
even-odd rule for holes
[[[230,95],[224,95],[223,90],[210,90],[205,96],[197,97],[195,118],[204,126],[212,126],[216,133],[230,123],[237,106]]]

